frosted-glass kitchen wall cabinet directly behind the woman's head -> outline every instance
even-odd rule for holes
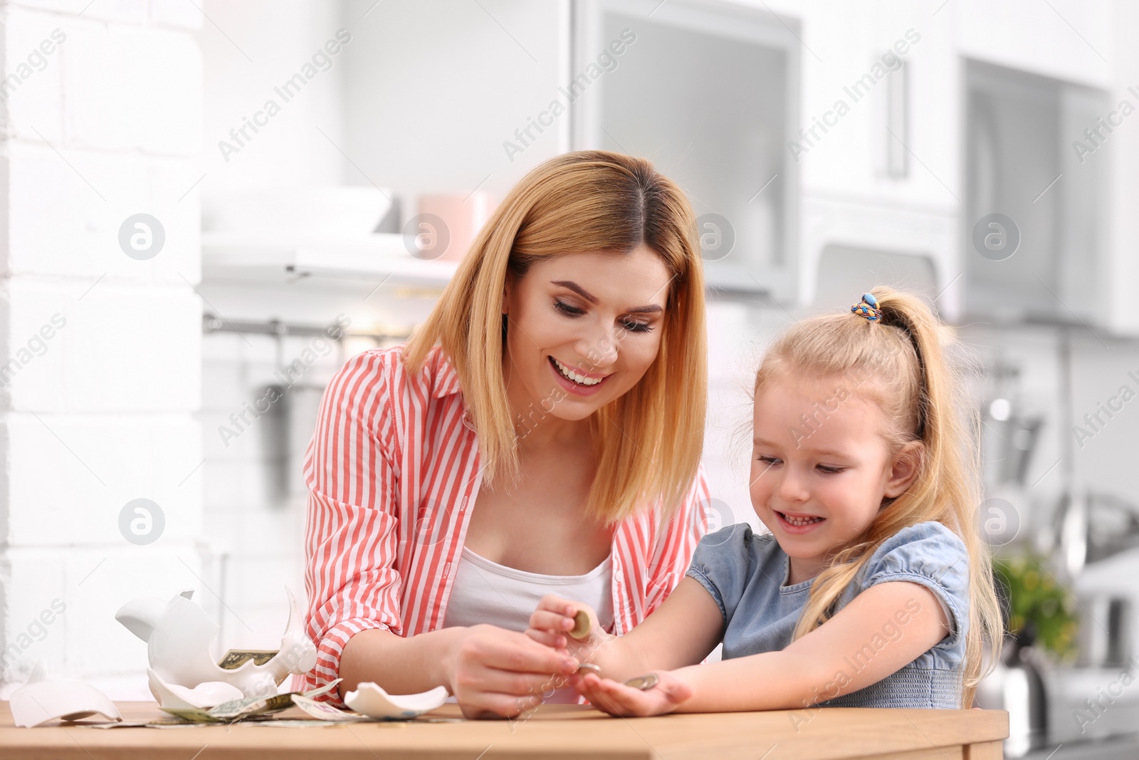
[[[579,2],[572,22],[572,146],[646,156],[685,189],[710,285],[793,300],[798,22],[659,0]]]

